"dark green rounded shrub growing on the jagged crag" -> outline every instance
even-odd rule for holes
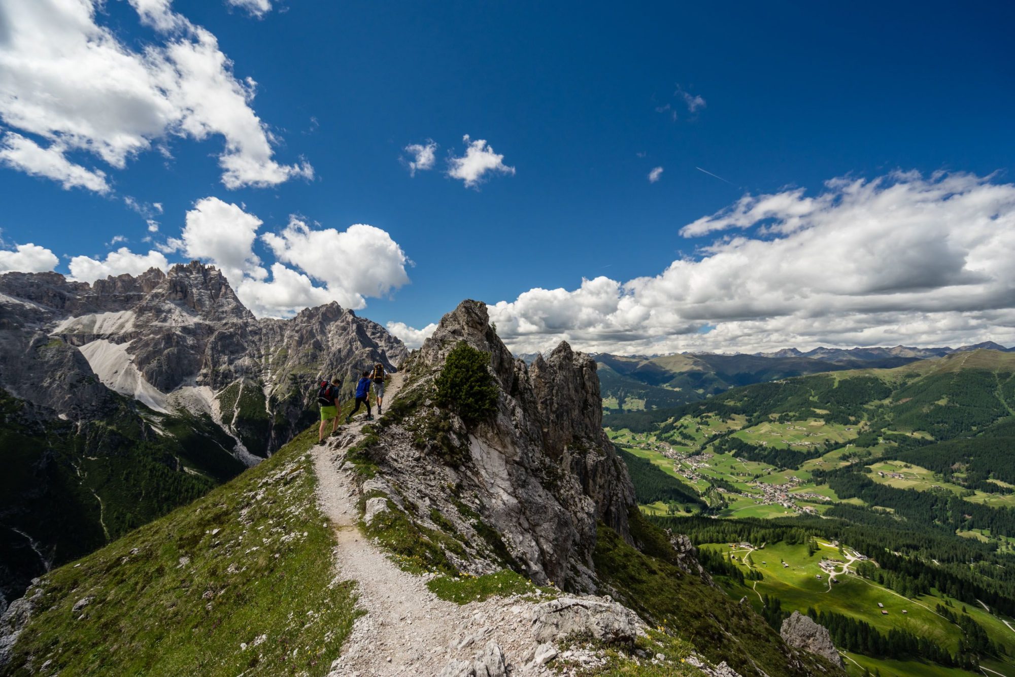
[[[497,386],[487,368],[489,363],[488,352],[464,341],[459,343],[448,353],[434,381],[436,403],[450,408],[467,423],[489,418],[497,405]]]

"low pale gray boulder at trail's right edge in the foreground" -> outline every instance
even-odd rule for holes
[[[607,644],[633,645],[641,625],[637,614],[627,607],[591,597],[550,600],[537,605],[532,612],[537,641],[590,636]]]

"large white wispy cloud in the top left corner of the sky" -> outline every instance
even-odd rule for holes
[[[175,13],[168,0],[131,4],[160,44],[143,51],[125,45],[97,22],[96,0],[5,0],[0,120],[40,139],[7,138],[19,152],[8,151],[6,163],[104,193],[104,175],[65,153],[90,153],[123,168],[170,138],[217,135],[224,139],[219,165],[227,188],[313,177],[306,161],[274,160],[273,136],[251,108],[256,83],[233,74],[211,32]],[[38,149],[49,151],[45,161]]]

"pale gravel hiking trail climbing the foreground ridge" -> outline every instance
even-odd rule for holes
[[[398,396],[403,374],[393,374],[385,403]],[[400,569],[357,527],[359,512],[345,450],[362,435],[367,421],[351,424],[311,450],[318,476],[318,502],[335,529],[336,581],[354,581],[356,619],[332,664],[331,676],[439,675],[453,659],[471,660],[491,639],[516,668],[514,675],[549,674],[542,667],[522,667],[535,646],[529,612],[519,598],[491,598],[459,605],[438,599],[427,578]],[[383,433],[382,433],[383,434]]]

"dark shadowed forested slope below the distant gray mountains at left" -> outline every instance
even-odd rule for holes
[[[8,599],[44,570],[43,557],[80,557],[245,468],[207,416],[156,416],[114,401],[101,420],[79,425],[46,419],[0,390],[0,593]]]

